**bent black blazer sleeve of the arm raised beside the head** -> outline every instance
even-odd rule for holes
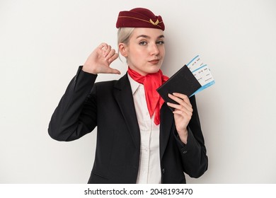
[[[51,117],[48,133],[52,139],[72,141],[96,127],[96,100],[89,98],[96,77],[79,66]]]

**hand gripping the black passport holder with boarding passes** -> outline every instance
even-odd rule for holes
[[[192,117],[192,105],[190,104],[190,100],[187,95],[184,95],[182,93],[168,94],[168,97],[179,104],[179,105],[176,105],[173,103],[167,103],[169,107],[173,107],[175,109],[173,111],[173,116],[176,122],[176,130],[178,132],[180,140],[184,144],[187,144],[187,139],[188,139],[187,126]]]

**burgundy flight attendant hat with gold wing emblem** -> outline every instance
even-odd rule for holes
[[[165,30],[161,16],[155,16],[146,8],[134,8],[130,11],[120,11],[116,28],[156,28]]]

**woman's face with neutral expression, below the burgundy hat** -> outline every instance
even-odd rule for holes
[[[135,28],[127,45],[121,48],[130,68],[145,76],[159,71],[165,56],[163,30]],[[122,52],[123,51],[123,52]]]

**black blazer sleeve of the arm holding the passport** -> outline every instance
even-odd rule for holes
[[[177,132],[175,136],[180,148],[180,155],[183,170],[190,177],[200,177],[208,168],[208,157],[205,147],[205,141],[200,126],[200,117],[197,112],[195,96],[190,98],[192,104],[192,118],[188,124],[188,140],[187,144],[183,144],[178,138]]]

